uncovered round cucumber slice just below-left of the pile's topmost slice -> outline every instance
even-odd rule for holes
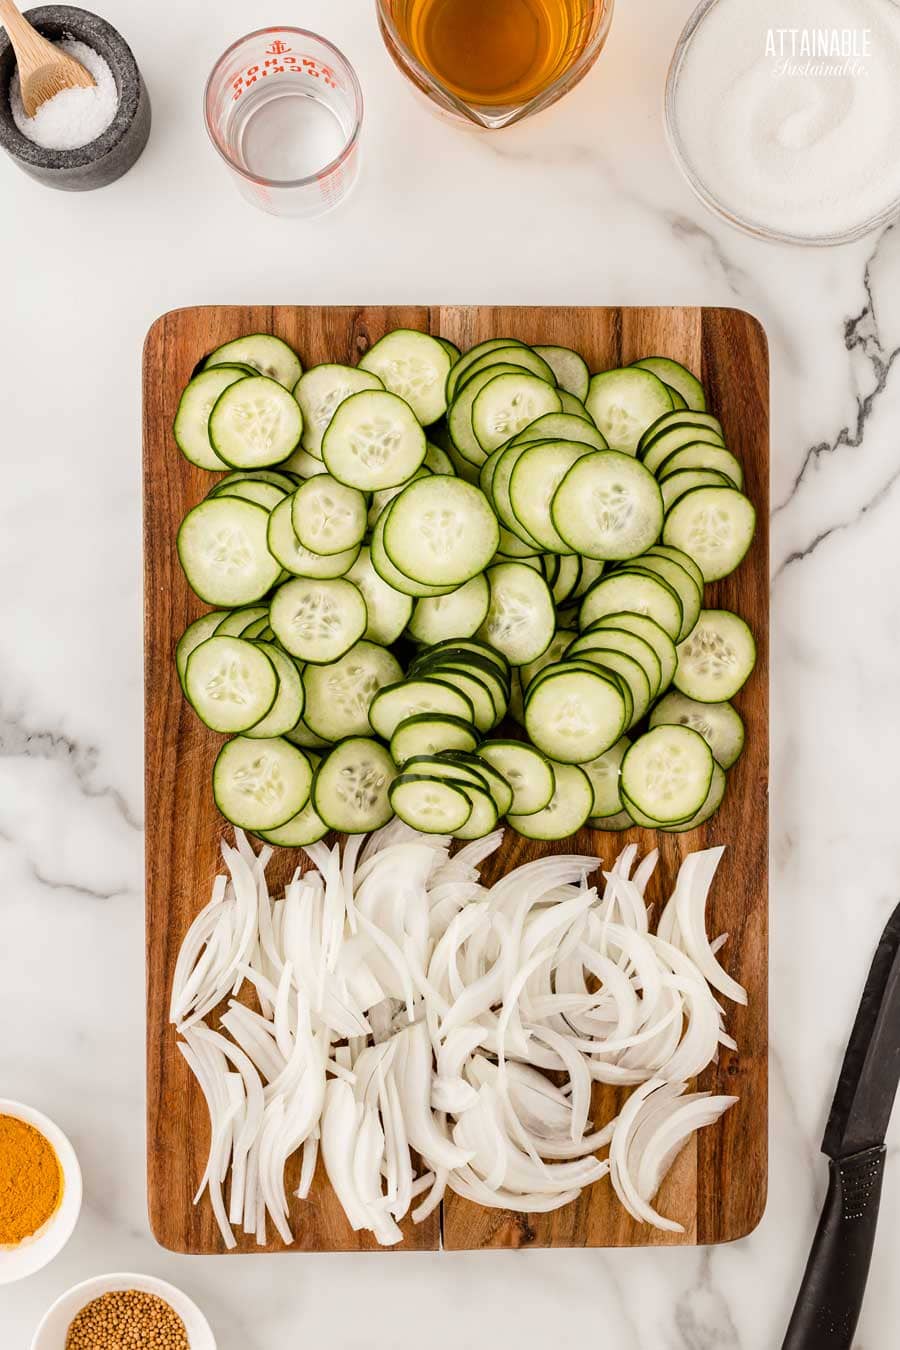
[[[425,459],[425,432],[397,394],[351,394],[322,436],[328,473],[348,487],[374,493],[412,478]]]

